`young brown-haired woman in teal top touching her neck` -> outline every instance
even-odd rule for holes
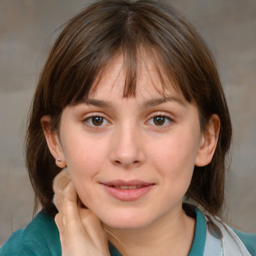
[[[230,140],[215,63],[180,13],[91,4],[39,77],[26,163],[42,210],[1,255],[255,255],[256,235],[221,220]]]

